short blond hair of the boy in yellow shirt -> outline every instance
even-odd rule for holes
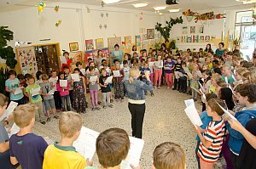
[[[78,113],[68,111],[62,113],[59,120],[61,137],[72,138],[82,128],[82,117]]]

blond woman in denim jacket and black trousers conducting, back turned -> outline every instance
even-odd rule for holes
[[[142,138],[143,136],[143,119],[146,110],[144,90],[153,90],[148,73],[145,73],[146,82],[138,80],[140,74],[137,66],[132,67],[130,69],[130,79],[124,82],[129,102],[128,108],[131,112],[132,136],[136,138]]]

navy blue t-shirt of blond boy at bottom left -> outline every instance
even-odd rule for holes
[[[41,169],[44,161],[44,151],[48,147],[44,138],[33,133],[9,139],[10,156],[16,157],[22,169]]]

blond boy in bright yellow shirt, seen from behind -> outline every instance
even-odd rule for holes
[[[63,112],[59,120],[61,141],[49,145],[44,153],[44,169],[84,169],[86,161],[73,147],[73,142],[79,138],[82,128],[82,117],[78,113]]]

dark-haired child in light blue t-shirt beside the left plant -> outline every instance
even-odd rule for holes
[[[10,100],[18,103],[19,105],[25,104],[23,88],[21,88],[21,93],[15,94],[15,90],[20,87],[20,81],[18,78],[16,78],[16,71],[9,70],[8,76],[9,79],[5,81],[5,91],[9,92]]]

